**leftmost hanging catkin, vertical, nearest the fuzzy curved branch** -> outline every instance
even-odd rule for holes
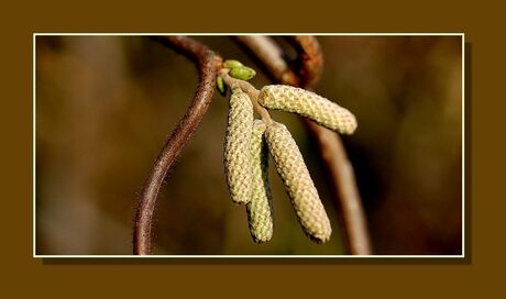
[[[224,170],[230,197],[235,203],[251,200],[250,141],[253,129],[253,104],[239,87],[232,89],[224,142]]]

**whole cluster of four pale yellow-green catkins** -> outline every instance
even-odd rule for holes
[[[224,144],[227,182],[233,202],[246,207],[253,240],[262,243],[273,235],[267,174],[271,154],[304,232],[317,243],[328,241],[332,232],[330,221],[295,140],[284,124],[270,118],[254,120],[252,101],[268,109],[298,113],[342,134],[355,131],[354,115],[314,92],[282,85],[266,86],[254,98],[233,87],[229,101]]]

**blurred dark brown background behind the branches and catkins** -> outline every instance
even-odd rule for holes
[[[254,66],[231,37],[195,37]],[[374,254],[461,254],[461,37],[318,40],[324,68],[317,93],[359,121],[343,141]],[[197,70],[147,36],[36,36],[35,55],[36,254],[131,254],[136,197],[185,113]],[[262,73],[251,82],[270,84]],[[168,175],[155,212],[154,253],[344,254],[317,145],[285,112],[272,115],[299,145],[333,233],[323,245],[304,235],[271,167],[274,235],[266,244],[252,241],[244,207],[227,191],[227,99],[215,95]]]

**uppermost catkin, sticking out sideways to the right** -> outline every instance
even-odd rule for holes
[[[307,91],[286,85],[270,85],[262,88],[258,102],[268,109],[295,112],[341,134],[353,134],[355,117],[339,104]]]

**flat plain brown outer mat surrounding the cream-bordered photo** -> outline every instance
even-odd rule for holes
[[[16,2],[2,9],[2,294],[15,297],[362,298],[504,292],[504,8],[424,1],[106,4]],[[186,4],[186,7],[183,7]],[[209,3],[206,3],[209,5]],[[277,7],[276,7],[277,5]],[[230,8],[230,9],[227,9]],[[230,11],[230,12],[228,12]],[[34,32],[463,32],[466,57],[466,255],[457,259],[34,259]],[[488,139],[494,139],[488,143]]]

